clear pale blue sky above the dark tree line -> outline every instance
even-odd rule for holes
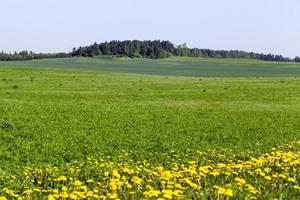
[[[299,0],[0,0],[0,51],[109,40],[300,55]]]

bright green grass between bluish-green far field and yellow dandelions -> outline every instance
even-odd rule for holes
[[[66,66],[80,62],[110,61],[74,59]],[[163,77],[12,66],[1,66],[0,78],[0,122],[14,124],[12,130],[0,128],[4,171],[122,149],[151,159],[159,157],[153,152],[207,147],[260,153],[300,139],[300,78]]]

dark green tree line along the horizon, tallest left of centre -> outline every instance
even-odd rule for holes
[[[245,58],[265,61],[300,62],[300,57],[295,57],[294,59],[291,59],[283,57],[282,55],[259,54],[254,52],[245,52],[238,50],[227,51],[189,48],[186,44],[175,46],[169,41],[160,40],[113,40],[110,42],[103,42],[99,44],[95,42],[90,46],[73,48],[72,52],[70,53],[36,54],[33,52],[22,51],[19,53],[8,54],[1,52],[0,61],[64,58],[75,56],[119,56],[150,59],[163,59],[171,56],[187,56],[201,58]]]

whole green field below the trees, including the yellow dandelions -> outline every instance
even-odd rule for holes
[[[0,63],[0,194],[297,199],[299,75],[252,60]]]

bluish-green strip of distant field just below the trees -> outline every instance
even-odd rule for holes
[[[245,59],[173,57],[164,60],[129,58],[65,58],[1,63],[1,66],[97,70],[172,76],[300,76],[300,64]]]

